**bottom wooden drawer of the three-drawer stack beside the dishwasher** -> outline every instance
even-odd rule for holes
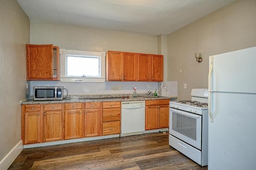
[[[104,122],[102,135],[120,134],[120,121]]]

